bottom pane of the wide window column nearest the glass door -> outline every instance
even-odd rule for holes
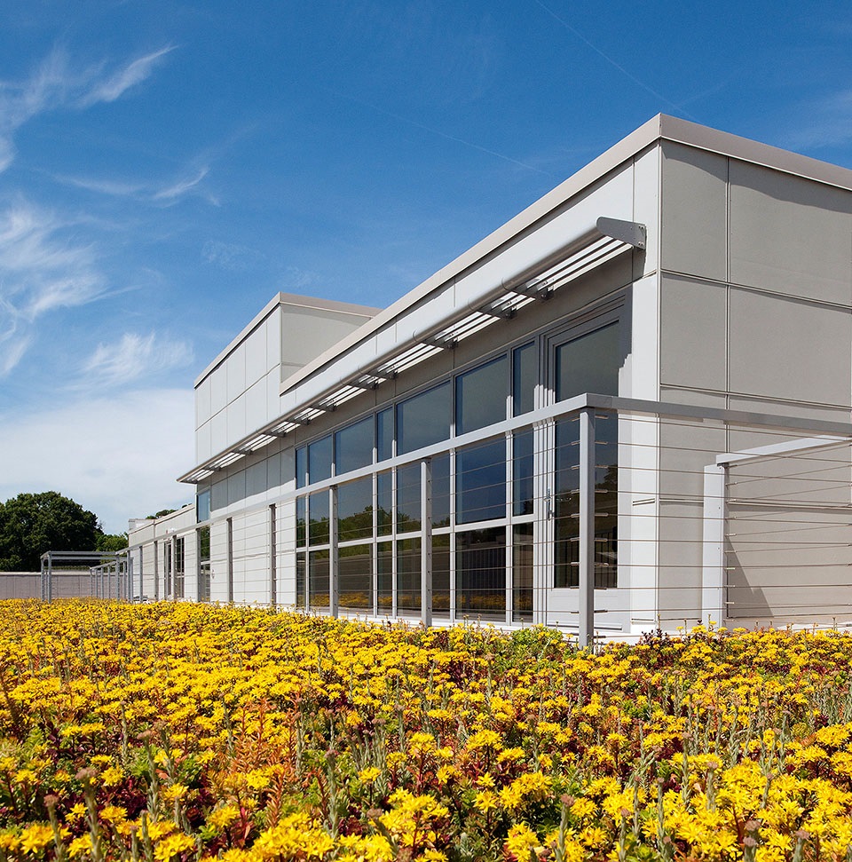
[[[455,537],[458,616],[506,619],[506,530],[470,530]]]

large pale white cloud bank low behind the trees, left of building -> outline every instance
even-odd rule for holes
[[[107,533],[193,499],[175,479],[194,463],[193,392],[129,391],[0,417],[0,500],[59,491]]]

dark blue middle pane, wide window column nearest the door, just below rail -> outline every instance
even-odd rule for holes
[[[459,449],[455,455],[455,520],[458,524],[506,516],[506,441]]]

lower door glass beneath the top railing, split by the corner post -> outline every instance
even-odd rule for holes
[[[619,420],[595,419],[595,586],[618,586]],[[580,421],[556,423],[554,586],[580,585]]]

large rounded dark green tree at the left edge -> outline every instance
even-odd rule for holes
[[[56,491],[0,503],[0,572],[37,572],[46,550],[96,550],[98,516]]]

